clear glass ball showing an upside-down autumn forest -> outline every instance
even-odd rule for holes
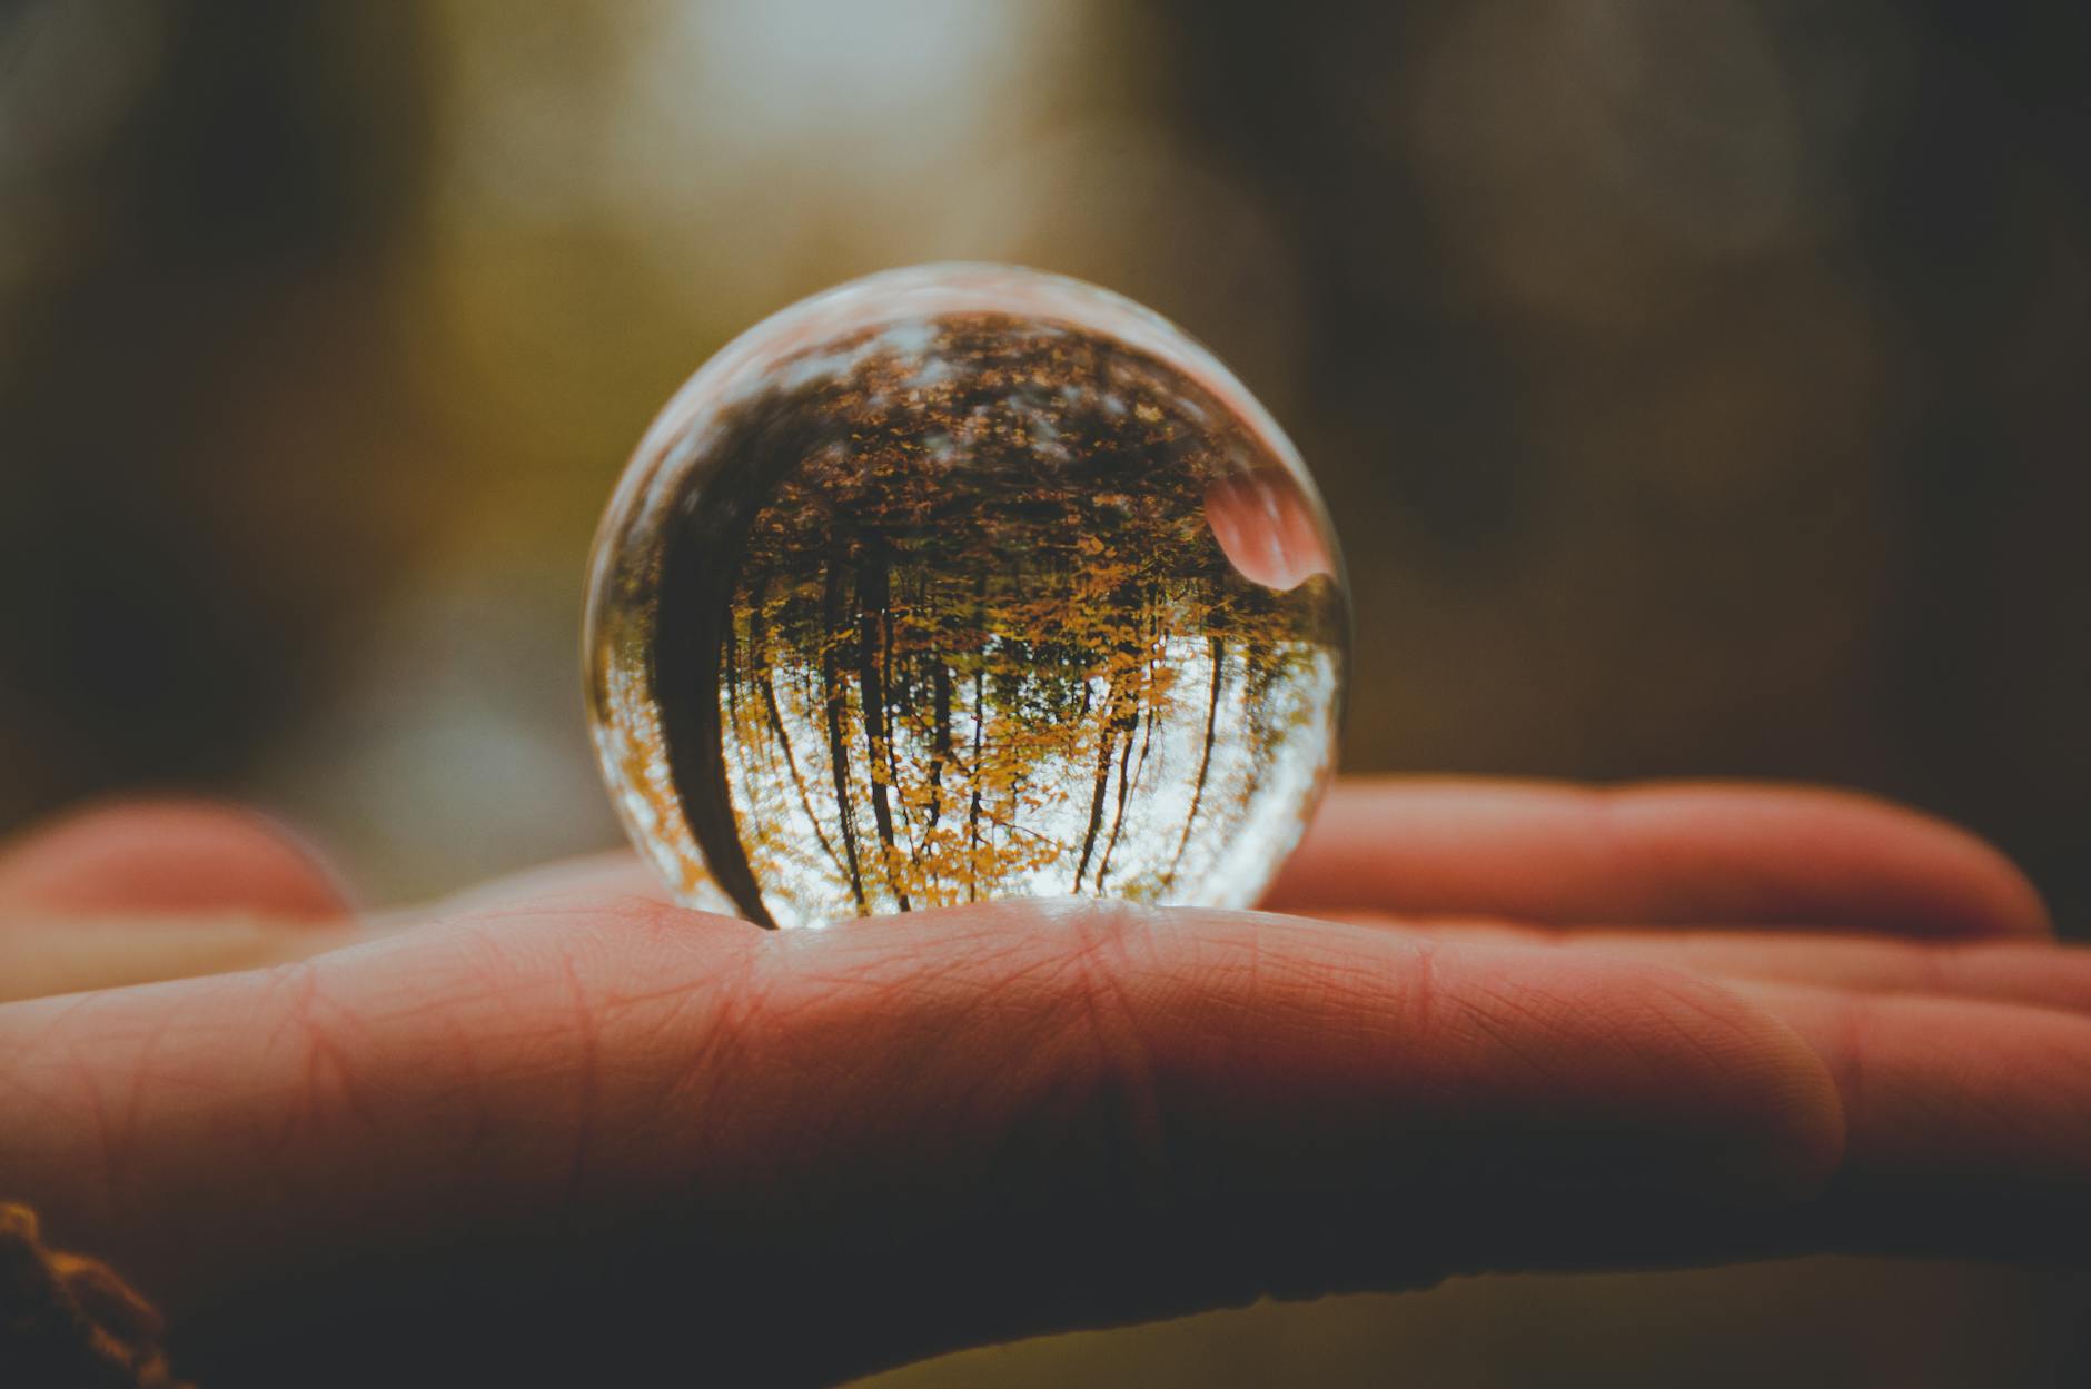
[[[1347,602],[1292,443],[1179,328],[895,270],[648,429],[596,540],[590,720],[688,906],[1248,906],[1334,768]]]

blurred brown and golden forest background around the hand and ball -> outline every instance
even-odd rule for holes
[[[1865,787],[2091,923],[2066,0],[0,0],[0,830],[224,791],[372,900],[613,843],[625,454],[742,326],[943,257],[1125,291],[1292,431],[1351,770]],[[2087,1305],[1493,1278],[878,1383],[2060,1385]]]

